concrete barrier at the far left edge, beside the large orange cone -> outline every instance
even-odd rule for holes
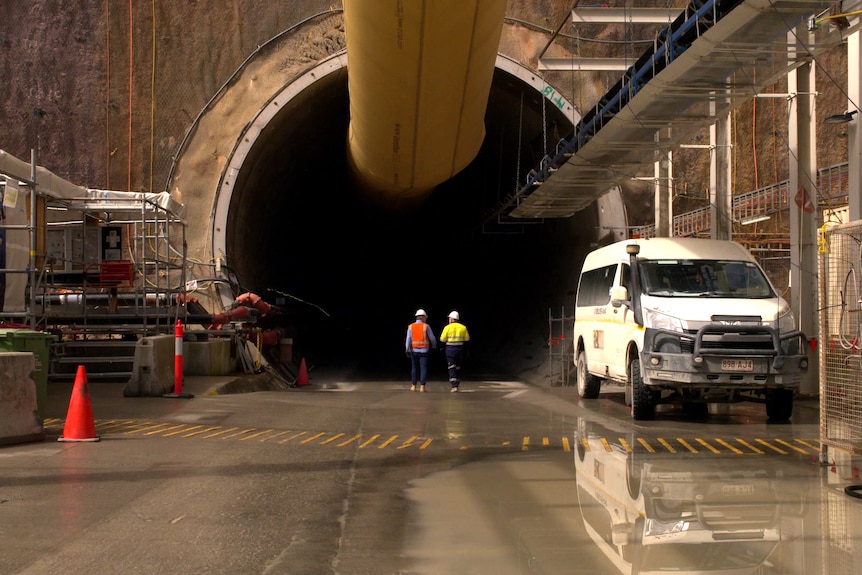
[[[0,354],[0,445],[45,439],[33,379],[35,369],[32,352]]]

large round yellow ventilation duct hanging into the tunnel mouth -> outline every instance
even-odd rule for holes
[[[506,2],[343,3],[351,167],[386,204],[415,203],[482,145]]]

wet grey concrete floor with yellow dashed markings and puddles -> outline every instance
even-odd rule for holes
[[[619,394],[494,378],[190,399],[89,384],[97,442],[0,447],[0,572],[858,573],[858,461],[815,400],[634,423]]]

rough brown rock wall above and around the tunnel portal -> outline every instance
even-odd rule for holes
[[[674,2],[682,5],[679,0]],[[648,1],[633,4],[649,5]],[[655,4],[655,3],[653,3]],[[664,6],[665,3],[660,4]],[[535,67],[550,56],[637,56],[623,26],[570,23],[572,3],[509,0],[501,52]],[[207,102],[243,61],[279,33],[317,14],[340,11],[339,2],[4,2],[0,29],[0,148],[89,187],[133,191],[165,189],[173,158]],[[340,19],[330,19],[336,22]],[[286,68],[311,64],[343,44],[343,30],[311,28],[292,37]],[[557,41],[548,46],[551,34]],[[639,29],[640,38],[650,30]],[[846,59],[841,48],[818,58],[818,115],[844,111]],[[616,74],[545,74],[558,91],[586,108]],[[785,92],[779,83],[775,92]],[[734,189],[745,192],[786,178],[786,102],[752,100],[733,114]],[[819,163],[846,160],[846,129],[818,123]],[[701,134],[695,138],[702,142]],[[219,154],[213,143],[212,154]],[[702,150],[675,155],[675,212],[705,204],[708,157]],[[624,189],[648,223],[652,190]]]

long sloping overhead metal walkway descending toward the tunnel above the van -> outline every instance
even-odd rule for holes
[[[794,35],[826,0],[691,0],[508,200],[510,215],[568,217],[689,140],[812,54]],[[818,32],[818,34],[820,34]],[[791,42],[792,41],[792,42]],[[796,44],[794,48],[792,44]],[[656,132],[669,137],[657,142]]]

